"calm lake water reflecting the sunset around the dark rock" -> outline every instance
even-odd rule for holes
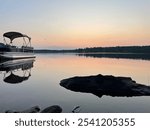
[[[33,63],[33,67],[32,67]],[[31,64],[31,65],[30,65]],[[101,98],[73,92],[59,85],[62,79],[73,76],[114,75],[132,77],[138,83],[150,85],[150,61],[137,59],[94,58],[75,54],[37,54],[29,61],[27,72],[13,67],[20,75],[18,83],[11,72],[0,71],[0,112],[25,110],[38,105],[41,109],[59,105],[63,112],[80,106],[80,112],[150,112],[150,96]],[[27,68],[27,67],[26,67]],[[31,71],[31,72],[30,72]],[[25,75],[26,78],[21,79]],[[11,79],[7,78],[8,76]],[[17,79],[15,78],[15,79]]]

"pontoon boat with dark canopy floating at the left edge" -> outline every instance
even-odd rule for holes
[[[7,32],[3,34],[3,37],[4,43],[0,43],[0,58],[22,59],[35,57],[33,47],[31,47],[31,38],[27,35],[19,32]],[[5,38],[8,38],[10,42],[7,43]],[[13,40],[16,38],[23,38],[23,45],[21,47],[14,45]]]

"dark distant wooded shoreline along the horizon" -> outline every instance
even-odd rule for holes
[[[150,46],[91,47],[73,50],[35,50],[35,53],[150,53]]]

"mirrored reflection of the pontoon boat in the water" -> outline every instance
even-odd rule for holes
[[[9,60],[0,63],[0,71],[4,72],[4,82],[16,84],[28,80],[34,59]]]

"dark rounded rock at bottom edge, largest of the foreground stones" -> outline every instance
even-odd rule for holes
[[[61,113],[62,108],[58,105],[50,106],[41,111],[41,113]]]

